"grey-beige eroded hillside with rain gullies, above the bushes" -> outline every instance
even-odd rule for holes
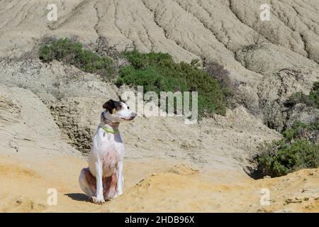
[[[176,60],[188,62],[213,60],[230,70],[237,99],[264,118],[269,115],[264,106],[279,106],[283,111],[277,94],[286,99],[296,89],[309,92],[318,80],[319,4],[316,0],[275,0],[271,21],[260,21],[263,3],[132,0],[128,7],[125,0],[59,1],[57,21],[48,21],[50,1],[1,1],[0,56],[21,56],[45,35],[77,35],[93,45],[105,37],[116,50],[169,52]],[[277,74],[286,69],[306,70],[306,79],[283,84]],[[267,87],[269,80],[273,87]],[[286,116],[275,118],[278,122],[269,125],[280,130]]]

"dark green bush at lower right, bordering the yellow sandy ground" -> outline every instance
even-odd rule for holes
[[[304,137],[305,131],[318,133],[318,123],[298,122],[284,131],[282,140],[262,146],[262,153],[256,157],[262,176],[279,177],[296,170],[319,167],[319,145]]]

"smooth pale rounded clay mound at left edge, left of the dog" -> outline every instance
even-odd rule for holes
[[[61,139],[50,111],[33,92],[0,84],[0,100],[0,114],[6,110],[6,117],[1,118],[6,121],[0,120],[0,143],[4,153],[12,149],[16,153],[26,153],[29,146],[35,150],[46,148],[50,152],[78,153]]]

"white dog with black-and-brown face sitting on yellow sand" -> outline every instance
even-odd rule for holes
[[[82,169],[79,175],[81,189],[95,204],[123,194],[124,145],[118,126],[136,116],[124,101],[110,99],[103,104],[103,109],[89,154],[89,167]]]

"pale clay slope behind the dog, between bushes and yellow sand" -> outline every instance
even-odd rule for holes
[[[91,138],[99,124],[103,103],[111,98],[118,99],[117,94],[128,89],[118,89],[101,82],[93,74],[60,62],[50,65],[38,60],[2,62],[0,66],[0,82],[14,89],[23,87],[38,96],[57,124],[52,128],[61,131],[56,137],[61,134],[67,143],[82,153],[91,149]],[[12,98],[21,99],[15,94]],[[24,99],[28,100],[28,97]],[[6,116],[5,112],[3,115]],[[28,113],[25,118],[32,116]],[[216,115],[195,125],[185,125],[178,117],[138,117],[133,123],[123,123],[121,134],[127,148],[126,157],[169,158],[237,170],[249,165],[247,158],[257,152],[259,143],[280,138],[279,133],[264,126],[243,106],[228,110],[226,116]]]

